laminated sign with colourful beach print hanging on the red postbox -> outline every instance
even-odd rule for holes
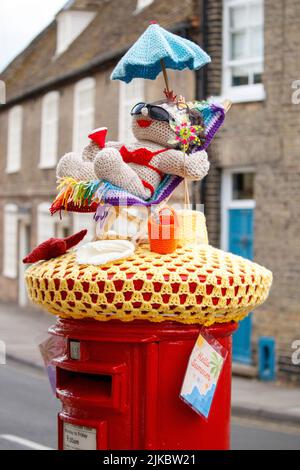
[[[189,359],[180,397],[208,418],[227,351],[213,337],[200,334]]]

